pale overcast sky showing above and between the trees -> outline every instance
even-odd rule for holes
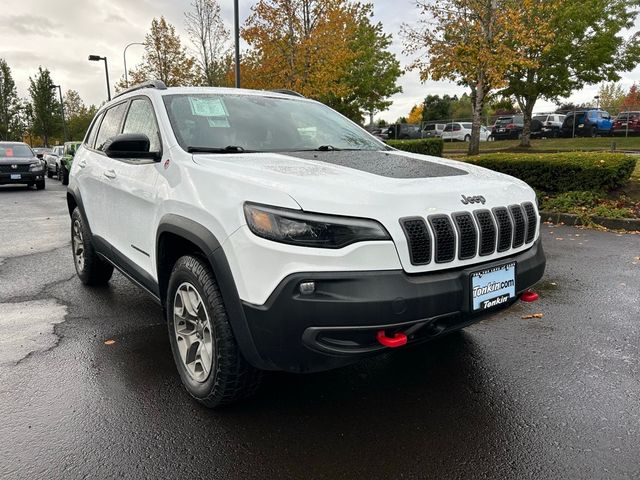
[[[415,21],[417,10],[413,0],[370,0],[376,19],[393,34],[394,53],[405,67],[410,59],[402,55],[399,36],[403,22]],[[29,76],[39,65],[48,68],[55,83],[63,90],[74,89],[88,104],[100,104],[106,99],[103,62],[89,62],[90,54],[106,56],[112,85],[123,75],[123,49],[130,42],[141,42],[153,17],[164,15],[173,23],[183,39],[185,10],[191,0],[2,0],[0,15],[0,57],[11,67],[21,96],[27,96]],[[244,20],[255,2],[240,0]],[[225,22],[233,19],[233,0],[221,0]],[[637,25],[638,26],[638,25]],[[134,45],[127,51],[127,63],[138,63],[143,48]],[[640,68],[623,75],[625,88],[640,80]],[[464,89],[448,82],[420,83],[416,72],[408,72],[399,80],[403,93],[393,97],[392,107],[378,118],[388,121],[407,115],[411,106],[427,94],[461,94]],[[576,103],[591,101],[598,87],[575,92]],[[537,111],[553,105],[539,102]]]

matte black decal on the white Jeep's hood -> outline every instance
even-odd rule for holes
[[[467,175],[448,165],[376,151],[286,152],[285,155],[353,168],[389,178],[436,178]]]

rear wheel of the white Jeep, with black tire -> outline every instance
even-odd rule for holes
[[[77,235],[76,227],[80,232]],[[80,250],[82,248],[82,250]],[[85,285],[106,285],[113,275],[113,265],[102,260],[93,248],[91,230],[85,224],[80,210],[71,214],[71,251],[78,278]],[[82,261],[80,261],[82,255]]]

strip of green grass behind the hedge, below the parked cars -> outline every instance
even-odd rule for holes
[[[616,150],[640,151],[640,137],[549,138],[542,140],[531,140],[531,150],[539,152],[611,150],[614,143]],[[481,142],[480,150],[483,152],[501,150],[517,151],[519,144],[519,140]],[[464,154],[467,151],[467,144],[463,142],[445,142],[444,151],[445,154],[449,152]],[[635,174],[640,177],[640,171],[638,169],[636,169]]]

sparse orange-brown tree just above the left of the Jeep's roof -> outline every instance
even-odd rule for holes
[[[196,60],[187,54],[173,25],[154,18],[151,30],[144,39],[142,63],[129,71],[130,83],[162,80],[168,87],[190,86],[197,83]],[[124,79],[116,84],[116,90],[126,88]]]

